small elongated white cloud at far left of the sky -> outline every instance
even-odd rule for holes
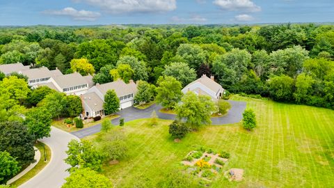
[[[101,14],[97,12],[92,12],[88,10],[76,10],[72,7],[66,7],[62,10],[45,10],[43,13],[48,15],[61,15],[61,16],[69,16],[75,20],[86,20],[86,21],[94,21],[97,17],[100,17]]]

